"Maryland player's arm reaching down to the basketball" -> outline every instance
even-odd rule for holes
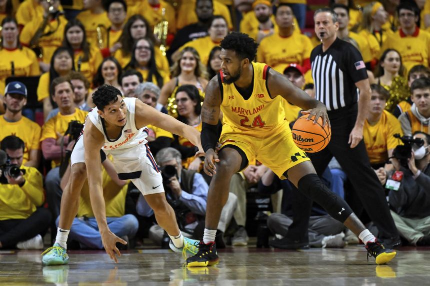
[[[280,95],[288,100],[288,102],[291,102],[292,104],[297,105],[298,107],[301,107],[303,110],[305,110],[302,111],[302,113],[309,114],[309,119],[315,115],[315,123],[318,118],[321,117],[323,125],[326,123],[330,124],[328,121],[327,109],[325,108],[325,105],[319,100],[311,98],[302,89],[292,84],[291,81],[289,81],[285,76],[271,68],[269,70],[267,81],[271,97]]]

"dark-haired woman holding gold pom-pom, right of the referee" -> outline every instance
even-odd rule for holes
[[[401,55],[395,49],[386,49],[382,53],[376,67],[375,76],[376,82],[390,93],[390,97],[386,101],[385,110],[391,112],[397,103],[409,96]]]

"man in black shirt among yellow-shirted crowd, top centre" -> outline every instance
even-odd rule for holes
[[[185,43],[208,35],[207,30],[213,16],[212,0],[196,0],[195,13],[197,14],[198,22],[184,26],[176,32],[167,51],[167,58],[169,60],[171,55]]]

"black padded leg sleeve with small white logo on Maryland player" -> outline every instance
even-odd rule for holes
[[[305,175],[298,181],[297,185],[300,192],[323,207],[333,219],[343,223],[352,214],[348,204],[337,194],[331,192],[321,182],[318,175]]]

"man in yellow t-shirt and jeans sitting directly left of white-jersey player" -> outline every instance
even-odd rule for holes
[[[74,93],[72,84],[67,78],[55,78],[51,83],[50,92],[53,101],[58,105],[59,112],[42,126],[40,141],[43,157],[46,160],[52,160],[52,169],[45,178],[45,188],[46,201],[48,202],[52,216],[56,218],[59,216],[62,194],[60,188],[59,165],[61,159],[66,157],[73,149],[75,143],[74,139],[76,139],[73,138],[76,137],[76,135],[65,133],[71,121],[83,123],[87,112],[76,108],[73,102]],[[66,163],[68,164],[68,162]]]

